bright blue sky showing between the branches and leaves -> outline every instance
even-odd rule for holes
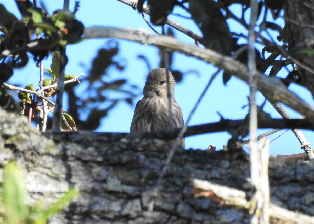
[[[44,1],[46,8],[50,14],[58,8],[62,8],[63,0]],[[20,16],[15,2],[12,1],[0,1],[8,11],[14,13],[18,18]],[[74,1],[70,1],[70,9],[73,9]],[[144,22],[142,16],[134,11],[131,7],[120,3],[117,0],[106,1],[80,1],[80,9],[76,14],[78,20],[80,20],[85,27],[91,27],[93,25],[99,26],[112,26],[120,28],[149,29]],[[189,16],[184,10],[176,8],[175,13],[180,13]],[[147,16],[149,18],[149,16]],[[175,20],[181,25],[201,34],[192,20],[184,19],[175,15],[171,15],[169,18]],[[241,26],[228,21],[232,31],[241,30]],[[159,27],[155,29],[160,31]],[[184,34],[175,31],[175,36],[182,42],[188,44],[194,44],[194,40],[185,36]],[[66,67],[66,74],[79,75],[86,73],[86,70],[80,66],[80,63],[84,63],[88,67],[91,64],[92,59],[97,54],[97,50],[100,47],[105,46],[108,39],[90,39],[81,43],[69,45],[67,47],[68,65]],[[116,60],[126,59],[126,69],[123,72],[119,72],[115,69],[110,69],[109,78],[118,79],[126,78],[131,84],[139,86],[139,96],[136,100],[142,98],[141,90],[145,83],[145,78],[148,73],[147,67],[142,60],[137,58],[138,55],[145,55],[152,67],[158,67],[159,58],[158,49],[152,46],[145,46],[130,41],[118,40],[119,42],[119,55]],[[31,60],[30,60],[31,61]],[[51,64],[51,58],[48,58],[44,62],[44,67],[49,67]],[[216,68],[201,60],[175,53],[172,68],[175,70],[189,71],[197,70],[199,76],[196,74],[187,74],[181,83],[176,84],[175,98],[179,103],[183,117],[186,120],[190,111],[192,110],[195,102],[200,96],[203,88],[206,86],[210,76],[216,71]],[[10,84],[15,83],[38,83],[39,70],[32,63],[25,68],[14,71],[14,76],[9,80]],[[24,85],[24,84],[23,84]],[[314,105],[313,99],[309,91],[303,87],[293,85],[291,90],[295,91],[302,99],[305,99],[312,106]],[[242,106],[247,105],[247,96],[249,90],[248,86],[241,80],[232,77],[231,80],[225,86],[222,82],[222,75],[220,74],[212,83],[197,111],[192,117],[189,125],[196,125],[202,123],[210,123],[219,121],[220,117],[217,114],[219,112],[223,117],[227,119],[242,119],[246,116],[248,107],[242,109]],[[257,94],[257,104],[260,105],[263,102],[263,97],[260,93]],[[135,102],[136,103],[136,102]],[[101,121],[99,132],[128,132],[133,117],[134,107],[127,105],[124,102],[118,104],[113,110],[111,110],[106,118]],[[280,116],[271,107],[269,103],[264,107],[266,112],[269,112],[273,118],[279,118]],[[289,108],[287,109],[290,115],[294,118],[300,115],[293,112]],[[259,130],[261,134],[267,130]],[[283,131],[271,135],[269,138],[272,140]],[[308,142],[314,137],[312,131],[303,132]],[[213,144],[217,149],[223,148],[223,145],[227,143],[230,135],[228,133],[212,133],[203,134],[195,137],[186,138],[186,148],[207,148],[209,144]],[[270,153],[272,155],[277,154],[292,154],[300,153],[303,150],[300,149],[300,143],[295,138],[291,131],[288,131],[280,138],[270,143]]]

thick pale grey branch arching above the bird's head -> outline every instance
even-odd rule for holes
[[[142,44],[164,47],[169,51],[177,51],[188,56],[211,63],[219,69],[233,74],[248,83],[249,75],[246,65],[231,57],[221,55],[211,49],[202,49],[197,46],[185,44],[179,40],[164,35],[155,35],[146,30],[121,29],[113,27],[93,26],[85,29],[85,39],[91,38],[118,38],[135,41]],[[258,90],[267,98],[282,102],[288,107],[304,115],[314,122],[314,108],[300,99],[295,93],[289,91],[276,77],[268,77],[262,73],[257,74]]]

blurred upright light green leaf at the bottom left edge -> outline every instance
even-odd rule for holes
[[[26,188],[22,171],[13,161],[3,169],[2,203],[7,223],[22,223],[26,217]]]

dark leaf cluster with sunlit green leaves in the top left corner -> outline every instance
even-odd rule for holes
[[[50,16],[46,10],[35,7],[29,1],[16,1],[23,18],[18,19],[0,4],[0,84],[12,75],[12,68],[28,63],[27,52],[39,63],[49,52],[64,54],[66,44],[80,41],[84,25],[75,19],[75,12],[56,10]],[[64,54],[64,65],[67,59]]]

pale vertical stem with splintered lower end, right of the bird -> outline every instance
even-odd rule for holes
[[[258,5],[256,0],[251,0],[251,18],[248,34],[248,70],[250,85],[250,121],[249,121],[249,149],[251,164],[252,185],[256,187],[256,208],[251,216],[251,224],[268,224],[269,223],[269,184],[268,184],[268,144],[265,140],[257,147],[257,105],[255,103],[255,94],[257,91],[257,69],[255,55],[255,26],[257,21]],[[265,17],[266,18],[266,17]],[[267,168],[267,170],[265,170]]]

